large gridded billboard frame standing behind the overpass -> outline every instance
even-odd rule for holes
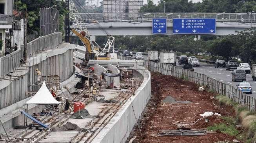
[[[143,0],[103,0],[103,17],[107,20],[133,20],[138,17]]]

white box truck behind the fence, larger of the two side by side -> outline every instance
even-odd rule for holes
[[[175,52],[160,52],[160,63],[172,64],[176,66],[176,53]]]

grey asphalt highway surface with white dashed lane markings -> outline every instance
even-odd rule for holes
[[[177,65],[177,66],[182,67],[183,65]],[[203,73],[208,77],[211,77],[212,79],[220,80],[221,82],[230,84],[232,86],[236,86],[237,84],[239,84],[239,82],[242,82],[242,81],[232,82],[232,79],[231,79],[232,70],[227,71],[226,68],[214,68],[213,64],[200,63],[199,67],[193,67],[193,68],[194,68],[194,71],[198,73]],[[252,86],[252,94],[251,95],[248,94],[248,95],[256,98],[256,82],[252,80],[251,74],[246,74],[246,81],[249,82]]]

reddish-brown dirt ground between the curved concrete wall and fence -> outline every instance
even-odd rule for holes
[[[130,138],[136,136],[133,143],[214,143],[234,139],[222,133],[204,136],[157,136],[158,130],[176,130],[180,126],[191,129],[207,128],[223,120],[220,116],[213,116],[210,117],[210,122],[205,122],[199,114],[208,111],[222,116],[234,116],[234,110],[220,107],[214,100],[214,93],[200,92],[196,84],[168,75],[151,73],[151,91],[152,97],[138,122],[139,128],[136,127],[131,133]],[[170,100],[168,96],[179,102]]]

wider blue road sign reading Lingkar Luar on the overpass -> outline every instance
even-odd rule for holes
[[[200,19],[173,19],[173,34],[215,34],[216,19],[200,18]]]

